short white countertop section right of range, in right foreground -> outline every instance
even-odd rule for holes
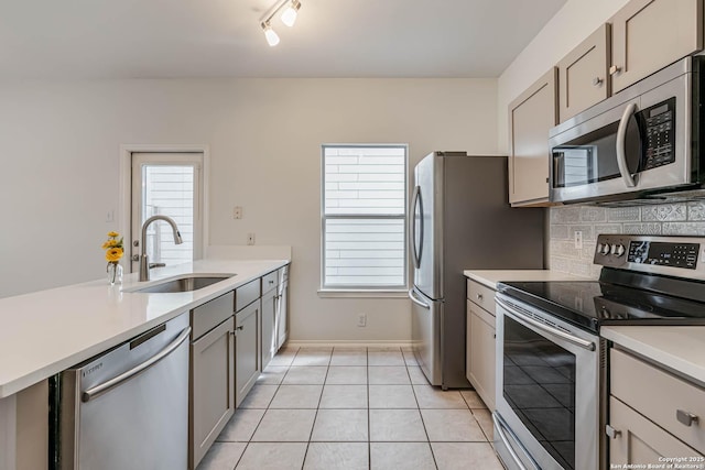
[[[705,326],[605,326],[600,336],[705,386]]]

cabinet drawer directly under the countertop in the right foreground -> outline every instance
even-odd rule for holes
[[[610,350],[610,394],[698,452],[705,451],[705,390],[617,349]],[[686,426],[676,413],[698,417]]]

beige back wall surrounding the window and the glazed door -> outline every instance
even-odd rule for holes
[[[121,144],[207,144],[210,244],[254,232],[292,245],[295,340],[411,330],[406,299],[317,296],[322,143],[408,143],[413,166],[432,150],[495,154],[498,142],[495,79],[6,81],[0,102],[0,296],[105,275]]]

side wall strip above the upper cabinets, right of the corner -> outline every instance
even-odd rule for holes
[[[507,108],[531,84],[612,17],[629,0],[568,0],[521,54],[500,75],[497,84],[498,149],[509,149]],[[560,87],[560,84],[558,84]]]

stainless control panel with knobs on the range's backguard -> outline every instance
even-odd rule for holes
[[[600,234],[595,264],[705,278],[705,237]]]

